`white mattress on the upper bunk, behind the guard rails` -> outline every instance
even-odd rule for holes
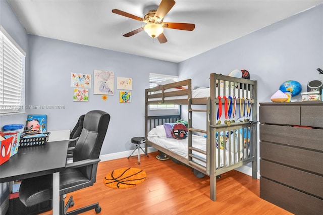
[[[177,91],[181,89],[168,89],[165,90],[165,92],[171,92],[171,91]],[[156,91],[155,93],[161,93],[161,91]],[[237,89],[237,88],[220,88],[220,94],[219,90],[217,88],[216,90],[216,95],[220,95],[223,97],[226,95],[227,97],[229,95],[231,96],[236,96],[236,97],[244,97],[244,98],[251,98],[251,92],[248,90],[243,90],[243,89]],[[204,97],[209,97],[210,96],[210,88],[205,88],[205,87],[200,87],[197,89],[192,90],[192,98],[204,98]],[[188,98],[187,95],[182,95],[182,96],[170,96],[170,97],[165,97],[165,100],[176,100],[176,99],[185,99]],[[154,101],[154,100],[160,100],[160,98],[149,98],[148,101]]]

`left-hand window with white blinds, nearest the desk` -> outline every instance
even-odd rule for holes
[[[23,108],[25,52],[0,26],[0,114]]]

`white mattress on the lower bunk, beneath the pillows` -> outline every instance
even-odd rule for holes
[[[166,134],[164,135],[163,126],[157,126],[157,128],[153,128],[148,133],[148,140],[159,145],[160,147],[166,148],[182,157],[188,158],[188,146],[187,146],[187,138],[184,140],[177,140],[174,138],[167,138]],[[165,130],[164,130],[165,132]],[[198,135],[192,135],[192,146],[201,150],[206,150],[206,138]],[[219,149],[216,150],[216,168],[218,168],[218,158],[219,158]],[[226,164],[228,166],[229,161],[229,151],[220,149],[220,167],[224,165],[224,158],[223,154],[226,153]],[[246,153],[246,150],[245,150]],[[206,160],[206,155],[201,154],[199,152],[193,151],[193,154],[197,157],[201,158],[202,160]],[[234,163],[234,156],[236,155],[236,163],[240,160],[243,156],[242,151],[240,152],[240,159],[238,159],[239,153],[231,152],[231,164]],[[205,162],[201,162],[199,159],[192,159],[194,162],[198,163],[205,167]]]

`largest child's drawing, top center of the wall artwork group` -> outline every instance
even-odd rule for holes
[[[113,95],[114,81],[113,72],[94,70],[94,94]]]

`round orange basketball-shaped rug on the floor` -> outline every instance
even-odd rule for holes
[[[106,174],[103,183],[110,188],[124,189],[141,184],[146,177],[145,171],[138,168],[121,168]]]

